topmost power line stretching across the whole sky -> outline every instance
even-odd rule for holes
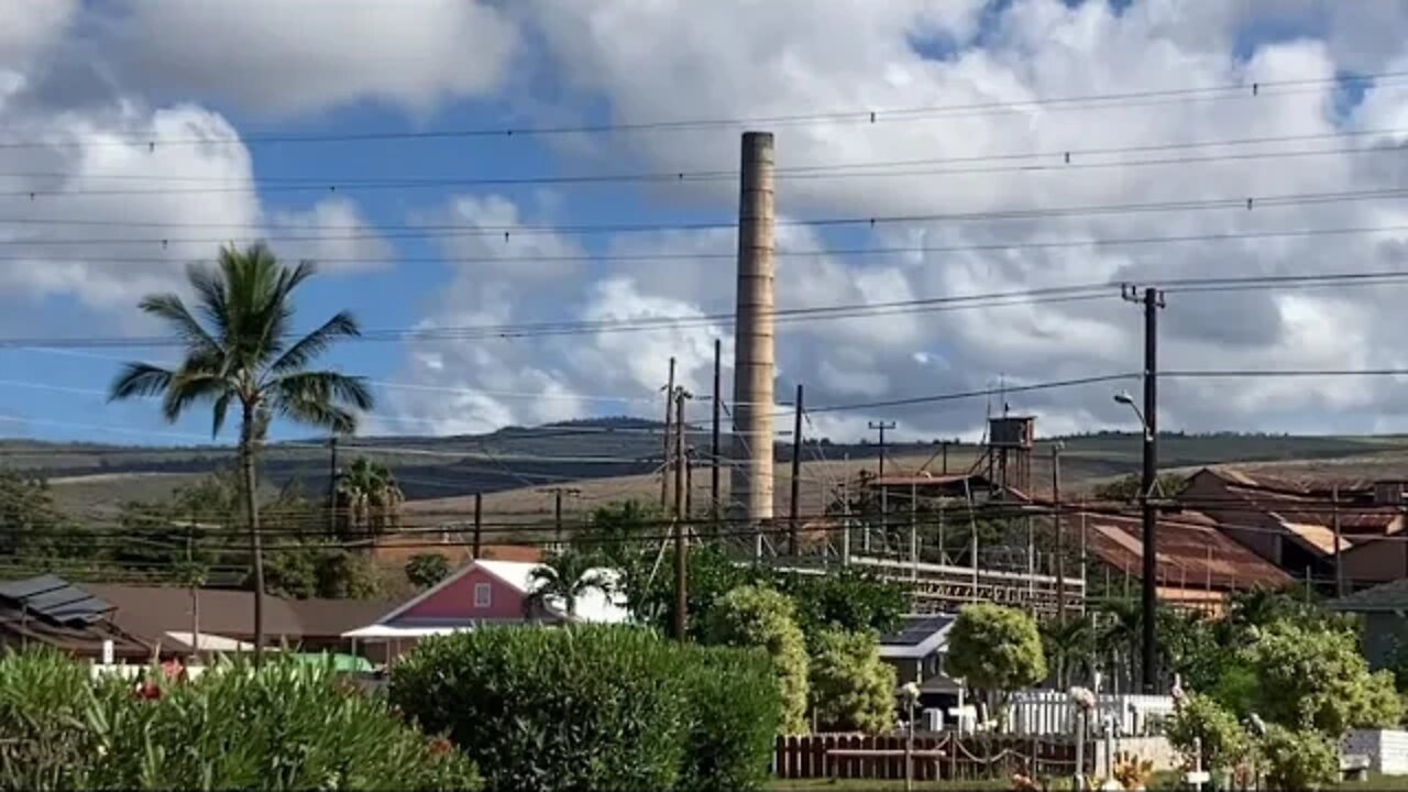
[[[427,140],[470,140],[470,138],[513,138],[513,137],[552,137],[552,135],[584,135],[584,134],[617,134],[643,131],[690,131],[712,130],[729,127],[769,125],[793,127],[810,124],[877,124],[898,121],[919,121],[935,117],[963,117],[1000,113],[1018,113],[1025,110],[1098,110],[1110,106],[1140,106],[1149,100],[1228,100],[1228,99],[1257,99],[1294,96],[1298,93],[1318,92],[1324,86],[1340,85],[1383,85],[1408,72],[1377,72],[1362,75],[1338,75],[1332,78],[1302,78],[1283,80],[1235,82],[1217,86],[1160,89],[1160,90],[1132,90],[1117,93],[1091,93],[1073,96],[1035,97],[1018,101],[973,101],[960,104],[929,104],[893,109],[849,109],[822,113],[791,113],[774,116],[738,116],[714,118],[680,118],[680,120],[650,120],[650,121],[620,121],[610,124],[579,124],[579,125],[524,125],[524,127],[473,127],[473,128],[439,128],[418,131],[366,131],[366,132],[321,132],[321,134],[284,134],[284,132],[253,132],[244,137],[156,137],[156,135],[62,135],[59,131],[25,130],[11,131],[18,134],[49,134],[48,140],[8,140],[0,141],[0,149],[25,148],[62,148],[77,145],[106,145],[106,147],[144,147],[155,151],[156,147],[184,147],[184,145],[272,145],[272,144],[329,144],[329,142],[372,142],[372,141],[427,141]]]

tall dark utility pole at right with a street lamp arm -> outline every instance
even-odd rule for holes
[[[1143,692],[1153,695],[1159,686],[1159,658],[1155,640],[1157,589],[1157,516],[1155,514],[1153,490],[1159,476],[1159,309],[1164,306],[1163,292],[1146,287],[1139,295],[1133,286],[1124,287],[1124,297],[1139,302],[1145,311],[1145,365],[1143,365],[1143,475],[1139,481],[1139,505],[1143,513]]]

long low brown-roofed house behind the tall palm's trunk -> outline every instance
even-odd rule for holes
[[[94,596],[111,603],[113,623],[151,647],[173,654],[194,651],[191,592],[173,586],[92,583]],[[201,651],[252,650],[253,593],[196,589]],[[348,651],[342,633],[384,613],[393,603],[358,599],[284,599],[265,596],[265,640],[303,651]]]

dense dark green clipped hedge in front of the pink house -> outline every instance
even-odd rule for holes
[[[762,652],[624,626],[427,640],[390,698],[449,734],[493,792],[755,789],[780,712]]]

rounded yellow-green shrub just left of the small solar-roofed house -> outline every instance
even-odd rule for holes
[[[874,633],[822,630],[811,637],[808,683],[825,731],[880,734],[894,727],[894,667]]]

